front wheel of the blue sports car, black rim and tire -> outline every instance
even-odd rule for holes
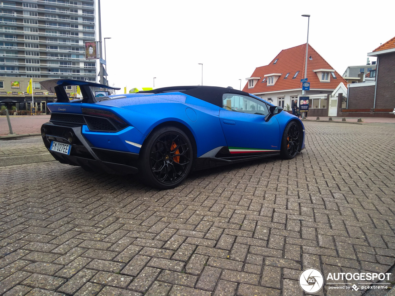
[[[292,159],[300,150],[302,144],[301,127],[295,120],[289,122],[284,129],[281,139],[280,155],[284,159]]]

